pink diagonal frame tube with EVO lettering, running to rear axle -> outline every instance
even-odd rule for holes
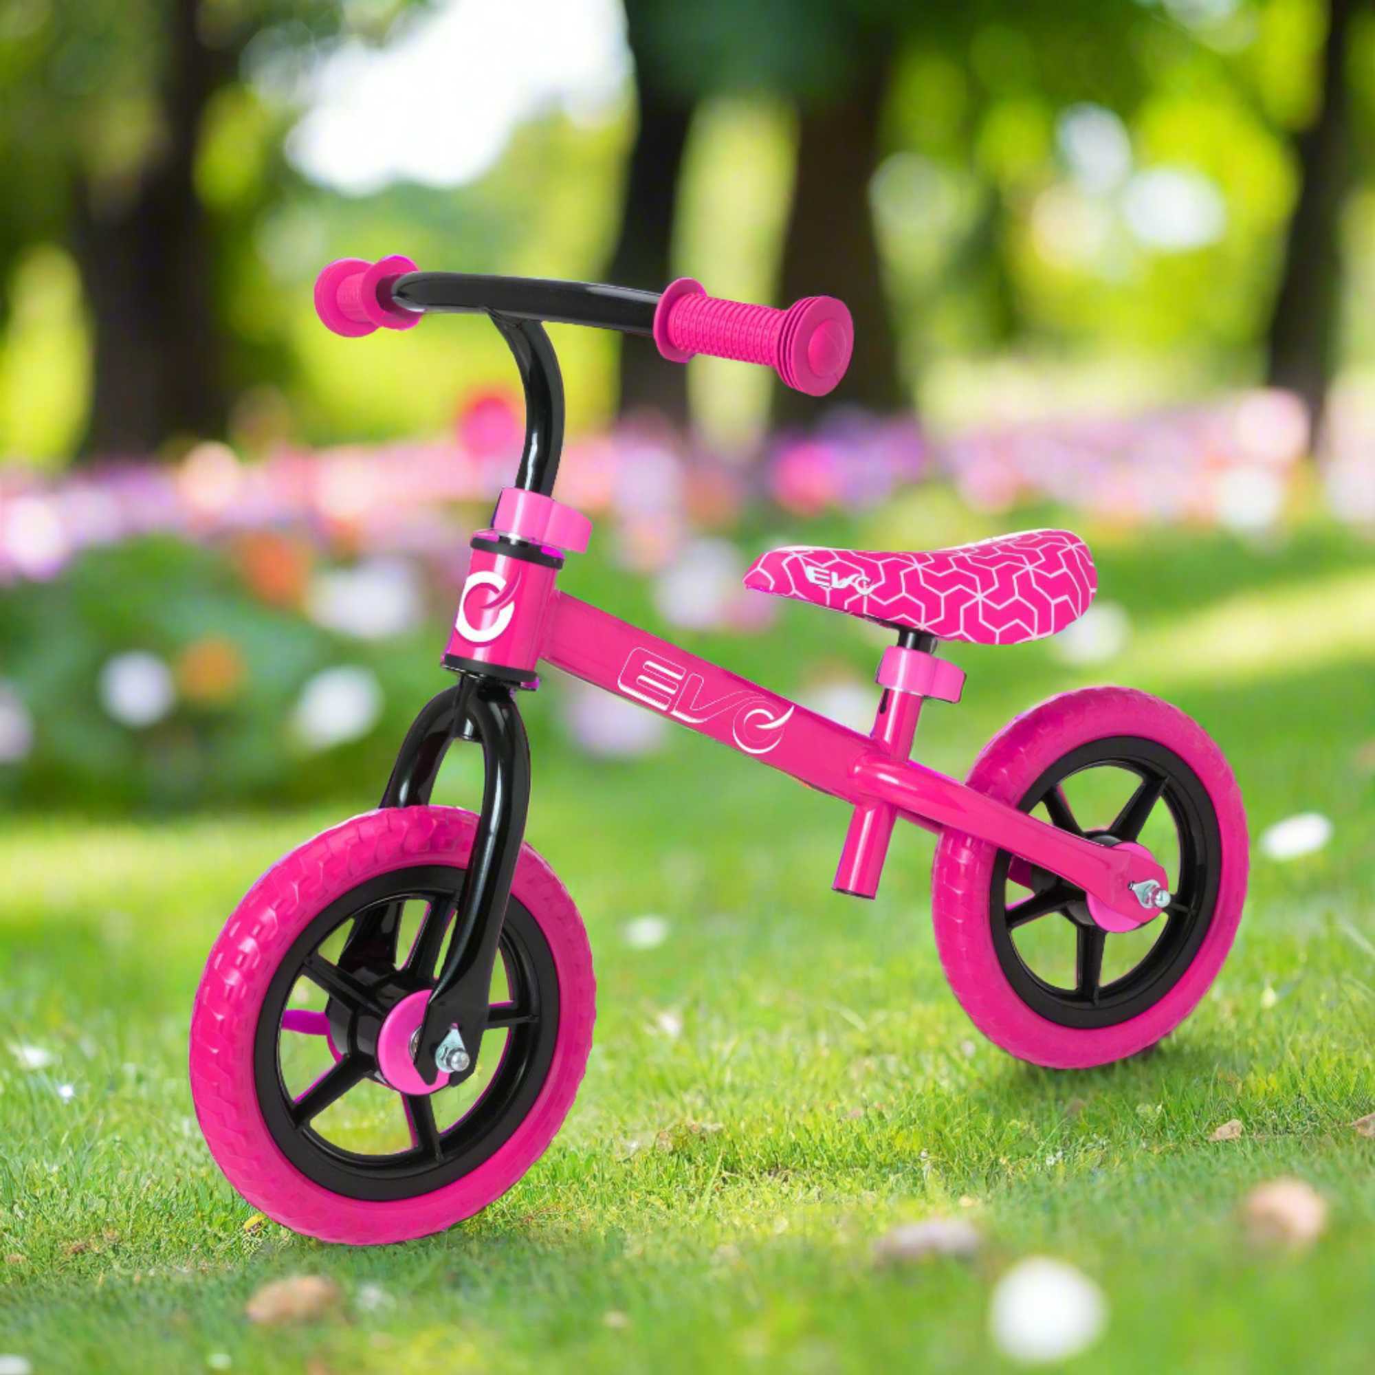
[[[540,657],[858,806],[836,879],[843,891],[872,895],[887,832],[892,818],[902,815],[930,829],[989,840],[1060,874],[1114,912],[1140,912],[1143,923],[1155,916],[1129,887],[1145,879],[1162,887],[1167,883],[1148,855],[1072,836],[906,759],[896,748],[903,744],[898,736],[910,748],[908,726],[916,729],[916,703],[902,707],[894,719],[901,729],[891,738],[881,727],[873,737],[864,736],[560,591],[550,598]],[[874,828],[884,833],[866,837]]]

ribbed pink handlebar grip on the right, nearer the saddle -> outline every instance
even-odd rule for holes
[[[833,296],[806,296],[776,311],[707,296],[688,276],[668,286],[654,311],[654,342],[670,362],[710,353],[759,363],[808,396],[825,396],[846,375],[854,337],[850,311]]]

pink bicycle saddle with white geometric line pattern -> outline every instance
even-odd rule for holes
[[[1018,645],[1078,620],[1099,579],[1078,535],[1028,529],[927,553],[771,549],[751,565],[745,586],[938,639]]]

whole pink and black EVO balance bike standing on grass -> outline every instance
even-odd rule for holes
[[[1093,688],[1004,727],[968,782],[909,758],[923,701],[960,700],[964,674],[936,657],[939,639],[1011,645],[1084,615],[1096,576],[1074,535],[760,557],[748,587],[895,632],[869,734],[557,588],[591,524],[553,498],[564,399],[544,322],[650,336],[679,363],[773,366],[820,396],[850,360],[840,301],[776,311],[690,280],[660,296],[418,272],[390,257],[327,267],[315,304],[345,336],[430,311],[485,314],[520,366],[527,430],[516,485],[472,540],[444,653],[456,685],[411,726],[381,807],[274,865],[206,962],[191,1089],[210,1151],[252,1204],[334,1242],[424,1236],[509,1189],[562,1125],[595,986],[578,909],[524,844],[516,689],[536,688],[542,663],[837,798],[850,813],[839,892],[874,895],[896,818],[935,832],[940,961],[979,1030],[1012,1055],[1106,1064],[1188,1016],[1232,945],[1247,874],[1236,782],[1195,722],[1145,693]],[[483,748],[476,814],[429,803],[455,740]]]

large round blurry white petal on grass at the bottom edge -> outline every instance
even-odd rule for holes
[[[1092,1346],[1107,1326],[1103,1290],[1064,1261],[1019,1261],[993,1290],[989,1332],[1015,1361],[1064,1361]]]

